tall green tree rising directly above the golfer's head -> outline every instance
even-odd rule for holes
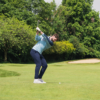
[[[44,2],[41,6],[41,11],[37,14],[37,19],[41,21],[39,27],[47,35],[52,35],[55,32],[53,28],[53,13],[55,9],[56,4],[54,0],[51,3]]]

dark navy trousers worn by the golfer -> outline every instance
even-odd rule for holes
[[[36,68],[35,68],[35,79],[42,78],[45,70],[47,69],[47,62],[42,54],[32,49],[30,51],[30,55],[32,56]],[[41,68],[42,66],[42,68]]]

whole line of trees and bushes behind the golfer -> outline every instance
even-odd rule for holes
[[[44,52],[47,60],[100,57],[99,12],[93,0],[0,0],[0,62],[31,62],[37,21],[47,35],[59,42]],[[58,49],[57,49],[58,48]]]

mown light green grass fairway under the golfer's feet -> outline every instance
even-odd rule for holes
[[[0,77],[0,100],[100,100],[100,63],[50,63],[46,84],[33,84],[34,64],[0,64],[0,69],[20,74]]]

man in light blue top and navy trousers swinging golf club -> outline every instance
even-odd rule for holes
[[[42,52],[46,49],[49,49],[53,46],[53,42],[59,39],[58,34],[54,34],[53,36],[47,36],[44,34],[38,27],[36,28],[37,33],[35,36],[35,40],[38,41],[36,45],[30,51],[30,55],[32,56],[36,68],[35,68],[35,77],[33,83],[46,83],[42,80],[42,76],[47,69],[47,62],[42,55]],[[39,32],[41,35],[39,36]],[[41,68],[42,66],[42,68]]]

